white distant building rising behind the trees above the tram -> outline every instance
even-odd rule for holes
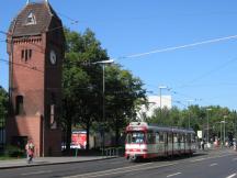
[[[172,108],[172,98],[171,96],[161,96],[161,105],[160,105],[160,96],[148,96],[148,108],[145,105],[142,107],[140,111],[138,111],[137,115],[139,120],[144,120],[144,118],[151,116],[154,111],[158,108]]]

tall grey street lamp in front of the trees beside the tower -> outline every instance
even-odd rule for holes
[[[93,64],[101,64],[102,65],[102,69],[103,69],[103,79],[102,79],[102,86],[103,86],[103,89],[102,89],[102,98],[103,98],[103,103],[102,103],[102,123],[104,122],[104,119],[105,119],[105,97],[104,97],[104,93],[105,93],[105,78],[104,78],[104,71],[105,71],[105,65],[109,65],[109,64],[112,64],[114,63],[114,60],[110,59],[110,60],[101,60],[101,62],[95,62]],[[103,131],[103,125],[101,127],[102,130],[102,147],[104,148],[104,131]]]

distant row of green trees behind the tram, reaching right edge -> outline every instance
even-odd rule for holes
[[[153,116],[146,121],[149,123],[157,123],[165,126],[179,126],[179,127],[192,127],[195,132],[203,131],[204,136],[210,131],[211,137],[221,136],[221,123],[226,121],[226,135],[228,137],[237,136],[237,114],[236,111],[230,111],[228,108],[222,108],[219,105],[190,105],[187,109],[180,110],[176,107],[172,109],[162,109],[162,116],[160,118],[160,109],[157,109]],[[208,121],[208,122],[207,122]],[[224,126],[224,125],[222,125]],[[223,132],[223,131],[222,131]]]

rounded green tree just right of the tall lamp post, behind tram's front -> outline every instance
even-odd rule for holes
[[[136,120],[136,107],[146,101],[143,82],[128,70],[113,65],[106,70],[105,115],[111,129],[115,132],[115,144],[125,125]]]

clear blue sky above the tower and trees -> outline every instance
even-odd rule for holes
[[[0,31],[26,0],[1,0]],[[192,47],[178,47],[237,35],[236,0],[49,0],[64,25],[82,33],[90,27],[111,58],[139,77],[148,91],[158,94],[168,86],[173,104],[221,105],[237,109],[237,38]],[[79,23],[72,23],[71,20]],[[0,58],[8,59],[0,34]],[[0,86],[8,88],[8,64],[0,62]],[[181,102],[182,104],[179,104]]]

